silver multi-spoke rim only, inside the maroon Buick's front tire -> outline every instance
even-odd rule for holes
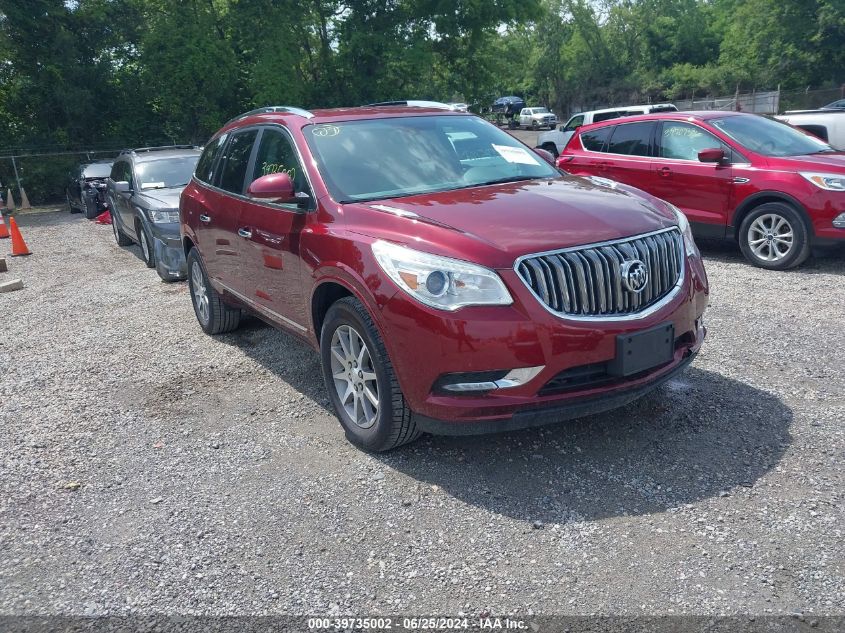
[[[370,428],[379,412],[378,380],[370,350],[353,327],[341,325],[334,331],[331,361],[341,406],[357,426]]]

